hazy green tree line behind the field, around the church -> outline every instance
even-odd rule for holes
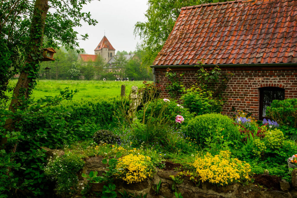
[[[120,72],[106,73],[105,67],[109,65],[105,63],[101,56],[97,56],[96,60],[83,62],[77,61],[78,53],[75,49],[68,51],[61,47],[56,49],[54,55],[55,61],[41,63],[40,79],[52,80],[115,80],[120,78],[134,78],[135,80],[152,80],[153,74],[150,67],[142,64],[143,51],[117,51],[113,67],[123,68]],[[124,55],[135,54],[132,59],[127,60]],[[48,67],[48,75],[45,68]]]

